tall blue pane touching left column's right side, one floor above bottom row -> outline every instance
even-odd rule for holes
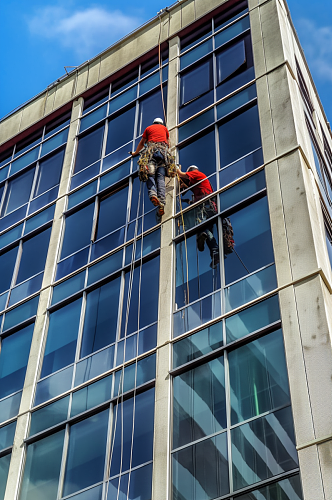
[[[81,299],[50,314],[41,378],[73,363]]]

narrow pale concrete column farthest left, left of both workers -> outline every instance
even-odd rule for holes
[[[37,317],[31,342],[30,355],[23,387],[19,417],[17,418],[16,432],[12,450],[12,458],[9,467],[7,487],[4,500],[17,500],[19,498],[20,476],[23,474],[25,461],[25,446],[23,440],[28,436],[30,423],[30,412],[33,405],[36,383],[39,378],[43,353],[46,341],[47,314],[46,309],[50,303],[51,283],[56,267],[58,246],[62,230],[62,213],[66,207],[68,179],[75,152],[75,136],[78,128],[78,118],[81,114],[83,99],[80,98],[73,103],[72,118],[69,127],[68,141],[64,155],[63,168],[59,186],[59,195],[56,201],[54,221],[50,237],[50,244],[45,264],[42,291],[40,292]]]

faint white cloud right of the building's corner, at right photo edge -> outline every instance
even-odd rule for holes
[[[320,28],[309,19],[296,24],[314,78],[332,83],[332,26]]]

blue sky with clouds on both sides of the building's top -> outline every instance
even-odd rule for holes
[[[165,0],[9,0],[1,2],[0,117],[44,90],[156,13]],[[332,122],[332,2],[289,0],[328,120]]]

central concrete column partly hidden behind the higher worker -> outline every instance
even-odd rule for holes
[[[171,144],[176,144],[177,122],[177,68],[178,37],[169,42],[169,71],[167,96],[167,126],[170,130]],[[166,179],[166,184],[169,181]],[[170,417],[171,386],[168,371],[171,365],[171,346],[168,341],[172,335],[172,297],[173,297],[173,219],[174,180],[166,189],[166,211],[161,226],[160,243],[160,284],[159,284],[159,321],[158,351],[156,373],[156,400],[154,426],[154,456],[152,499],[166,500],[170,498]]]

